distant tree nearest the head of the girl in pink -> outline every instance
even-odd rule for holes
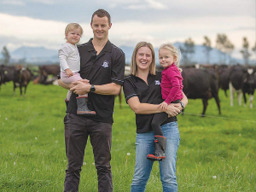
[[[192,55],[195,53],[194,47],[195,47],[194,41],[191,38],[188,38],[185,40],[184,46],[179,48],[183,55],[183,58],[184,58],[183,63],[185,66],[190,64]]]

